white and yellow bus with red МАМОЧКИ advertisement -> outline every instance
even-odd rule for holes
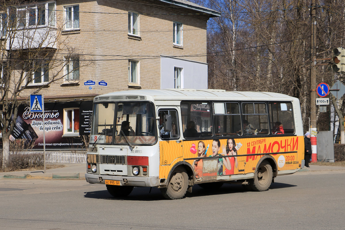
[[[157,187],[183,198],[198,184],[265,191],[304,167],[299,100],[280,93],[129,90],[93,100],[86,181],[112,196]]]

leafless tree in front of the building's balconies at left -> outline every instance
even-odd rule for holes
[[[30,94],[40,92],[90,62],[82,62],[70,46],[69,37],[61,36],[65,25],[61,20],[62,12],[55,10],[55,3],[0,2],[0,129],[4,167],[9,157],[9,140],[18,118],[18,107],[28,103]],[[65,67],[69,60],[78,60],[79,66],[68,70]]]

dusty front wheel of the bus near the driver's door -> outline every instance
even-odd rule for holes
[[[185,196],[188,189],[188,174],[178,167],[172,171],[166,188],[161,188],[163,197],[170,200],[181,199]]]

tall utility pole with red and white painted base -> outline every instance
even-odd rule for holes
[[[316,129],[316,0],[311,0],[310,132]],[[312,162],[317,161],[316,136],[311,134]]]

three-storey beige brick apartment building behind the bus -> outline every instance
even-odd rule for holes
[[[66,60],[59,73],[65,75],[62,79],[39,92],[48,114],[48,150],[80,147],[80,136],[89,134],[88,118],[96,95],[132,89],[207,88],[207,21],[220,16],[214,10],[184,0],[56,0],[24,4],[16,12],[24,18],[18,23],[40,24],[36,31],[62,23],[61,30],[51,33],[68,41],[78,54]],[[7,16],[3,12],[0,18],[2,36]],[[48,41],[46,46],[56,49],[57,43]],[[29,80],[24,96],[48,82],[52,71],[45,72],[42,65],[41,78]],[[36,138],[35,149],[42,149],[42,119],[30,113],[29,106],[19,110],[19,120],[24,122],[17,119],[17,123],[24,127],[17,127],[13,138],[29,130]]]

